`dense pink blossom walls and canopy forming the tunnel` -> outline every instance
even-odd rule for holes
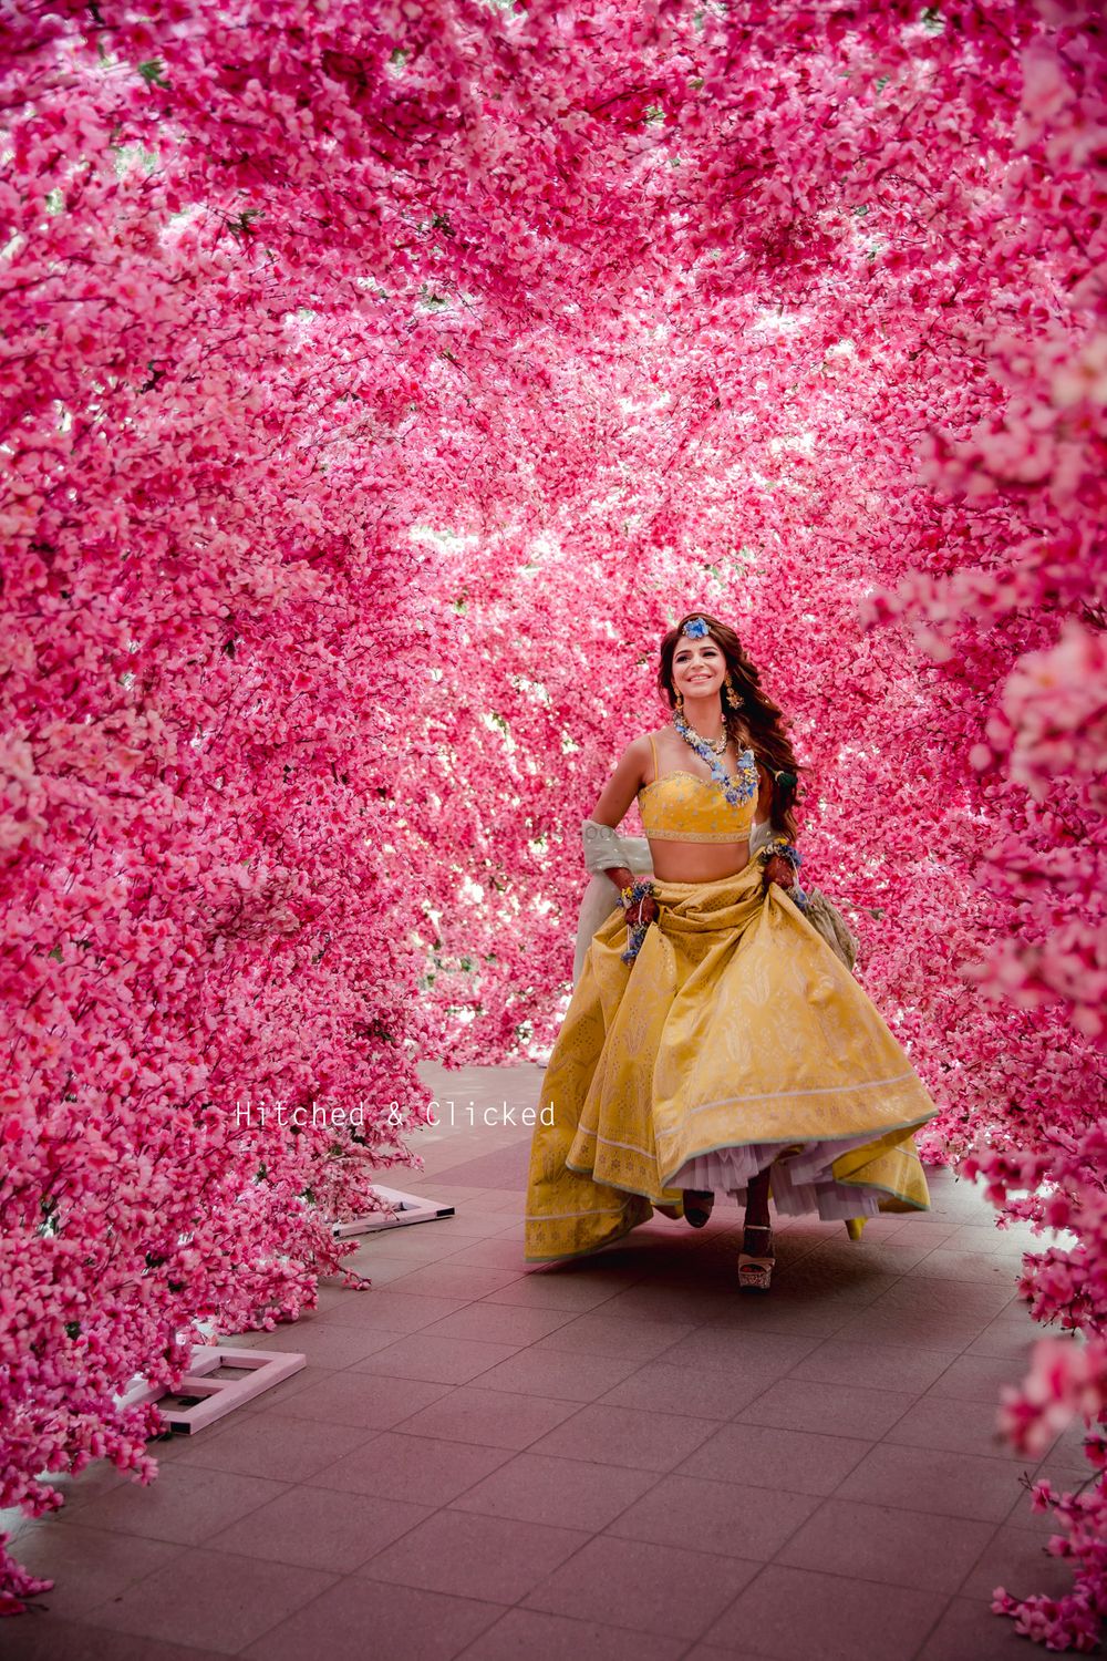
[[[0,1503],[149,1475],[116,1392],[310,1304],[418,1056],[551,1040],[579,819],[702,605],[793,716],[928,1154],[1069,1231],[1001,1412],[1089,1425],[1036,1497],[1074,1591],[996,1608],[1090,1648],[1099,13],[181,0],[0,50]],[[365,1123],[234,1111],[277,1101]]]

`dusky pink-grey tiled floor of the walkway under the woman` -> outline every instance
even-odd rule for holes
[[[539,1070],[427,1075],[443,1123],[388,1181],[456,1216],[367,1237],[372,1291],[330,1282],[295,1325],[227,1339],[307,1367],[156,1443],[156,1483],[96,1467],[23,1521],[56,1586],[3,1623],[5,1656],[1034,1654],[988,1608],[1069,1583],[992,1435],[1037,1332],[1029,1234],[936,1171],[928,1216],[856,1244],[780,1224],[765,1299],[737,1296],[732,1203],[528,1267],[529,1133],[500,1103],[533,1103]],[[1075,1433],[1042,1465],[1079,1478]]]

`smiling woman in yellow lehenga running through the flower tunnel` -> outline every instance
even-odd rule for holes
[[[936,1106],[805,915],[797,762],[734,630],[689,613],[657,684],[672,726],[626,747],[584,821],[612,912],[543,1081],[526,1259],[596,1251],[654,1208],[702,1227],[732,1193],[739,1286],[767,1291],[770,1184],[780,1214],[840,1218],[855,1239],[878,1211],[926,1211],[913,1131]],[[616,835],[636,796],[649,882]]]

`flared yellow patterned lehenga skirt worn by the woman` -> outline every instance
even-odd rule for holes
[[[685,1188],[742,1199],[765,1166],[780,1214],[929,1209],[913,1131],[938,1110],[798,907],[757,860],[654,894],[634,963],[622,910],[593,935],[549,1058],[526,1261],[679,1216]]]

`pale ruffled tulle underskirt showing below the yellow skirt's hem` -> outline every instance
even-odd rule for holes
[[[831,1164],[848,1148],[861,1148],[873,1139],[846,1136],[838,1141],[805,1143],[798,1153],[785,1154],[795,1143],[750,1143],[742,1148],[717,1148],[714,1153],[687,1159],[666,1188],[694,1188],[700,1193],[734,1194],[745,1201],[747,1184],[772,1164],[772,1201],[782,1218],[798,1218],[817,1211],[827,1222],[845,1218],[875,1218],[881,1189],[836,1183]]]

